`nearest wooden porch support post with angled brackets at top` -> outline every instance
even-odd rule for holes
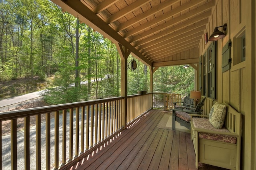
[[[122,46],[116,44],[118,53],[121,58],[121,96],[124,97],[122,102],[122,126],[126,129],[127,122],[127,58],[130,55],[130,51]]]

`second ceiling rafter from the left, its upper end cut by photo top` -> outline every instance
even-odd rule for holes
[[[140,8],[140,6],[143,6],[144,4],[148,3],[149,1],[150,0],[137,0],[137,1],[133,2],[132,4],[130,4],[129,6],[126,6],[122,10],[116,12],[112,16],[106,18],[105,22],[108,24],[112,23],[112,22],[118,20],[119,18],[122,18],[126,14],[131,13],[133,10]]]

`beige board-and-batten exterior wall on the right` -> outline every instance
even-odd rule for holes
[[[205,33],[208,38],[217,26],[227,23],[226,37],[216,45],[216,101],[226,102],[242,113],[241,169],[256,169],[256,63],[255,63],[255,0],[216,0],[216,8]],[[222,27],[219,28],[222,31]],[[241,62],[239,39],[246,36],[246,60]],[[222,48],[231,40],[231,69],[222,72]],[[206,53],[210,41],[200,43],[199,56]],[[203,59],[202,59],[203,62]],[[203,72],[203,70],[202,70]],[[203,81],[202,81],[203,82]],[[207,97],[207,96],[206,96]],[[206,98],[204,114],[208,114],[213,101]]]

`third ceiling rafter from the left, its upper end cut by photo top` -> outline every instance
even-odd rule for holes
[[[131,20],[128,20],[127,22],[124,22],[121,25],[118,25],[114,29],[115,29],[115,31],[118,31],[118,32],[123,29],[126,29],[130,25],[134,25],[135,23],[137,23],[141,20],[144,20],[148,16],[151,16],[151,15],[155,14],[156,12],[163,10],[164,8],[170,7],[172,4],[174,4],[178,1],[180,1],[180,0],[166,0],[165,2],[159,4],[158,6],[155,6],[155,7],[151,8],[150,10],[147,10],[147,11],[143,12],[142,14],[132,18]]]

